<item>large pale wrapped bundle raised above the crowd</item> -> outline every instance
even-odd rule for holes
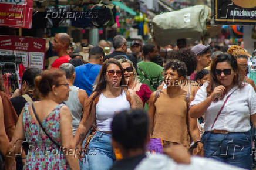
[[[160,46],[182,38],[200,40],[206,33],[207,21],[210,21],[210,8],[205,5],[156,15],[153,18],[154,40]]]

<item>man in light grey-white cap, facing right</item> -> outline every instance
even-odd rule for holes
[[[201,71],[204,69],[204,67],[210,65],[211,50],[209,45],[205,46],[202,44],[198,44],[191,49],[191,52],[193,52],[197,56],[197,69],[194,70],[194,73],[190,75],[190,80],[194,80],[194,76],[198,71]]]

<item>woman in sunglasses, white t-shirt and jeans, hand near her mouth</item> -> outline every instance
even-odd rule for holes
[[[256,125],[256,94],[244,83],[237,60],[221,53],[211,66],[210,81],[190,104],[193,118],[205,116],[204,154],[245,169],[252,168],[250,119]]]

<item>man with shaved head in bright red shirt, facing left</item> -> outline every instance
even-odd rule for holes
[[[68,63],[71,59],[67,53],[70,44],[70,36],[66,33],[58,33],[52,42],[53,52],[57,52],[59,58],[52,63],[52,68],[59,68],[63,63]]]

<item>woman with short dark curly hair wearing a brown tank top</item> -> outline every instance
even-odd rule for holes
[[[167,88],[153,92],[149,100],[151,138],[161,138],[164,148],[177,144],[189,148],[190,135],[197,142],[200,134],[197,119],[187,115],[188,103],[193,100],[193,96],[180,87],[187,69],[184,62],[170,60],[164,70],[164,83]]]

